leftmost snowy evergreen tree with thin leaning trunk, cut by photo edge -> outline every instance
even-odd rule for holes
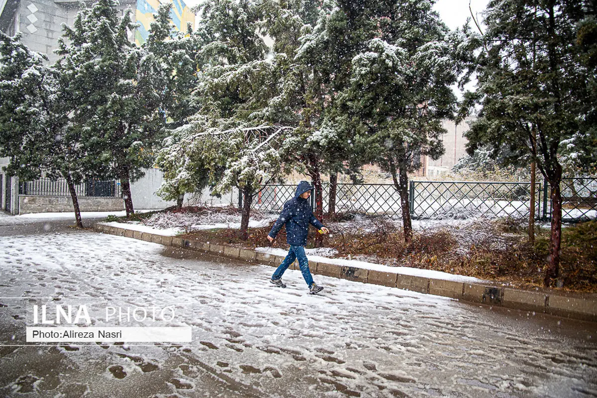
[[[21,180],[63,177],[82,228],[75,185],[95,162],[82,146],[81,128],[72,121],[61,76],[44,66],[45,55],[30,51],[19,39],[0,32],[0,156],[10,158],[6,171]]]

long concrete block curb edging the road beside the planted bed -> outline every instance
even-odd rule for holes
[[[198,240],[183,239],[176,236],[162,236],[147,232],[141,233],[102,223],[97,223],[94,229],[110,235],[132,237],[133,239],[145,240],[146,242],[201,251],[273,267],[277,267],[284,259],[279,255],[267,254],[252,249],[199,242]],[[489,306],[500,306],[597,322],[597,295],[578,297],[577,295],[566,294],[565,292],[525,291],[483,283],[454,282],[453,280],[433,279],[368,270],[359,267],[340,266],[321,261],[309,261],[309,267],[313,274],[318,275],[450,297],[472,303],[487,304]],[[296,261],[290,268],[294,270],[298,269]]]

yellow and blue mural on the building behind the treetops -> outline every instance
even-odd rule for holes
[[[162,0],[163,2],[164,0]],[[168,1],[168,0],[165,0]],[[170,18],[177,30],[186,31],[187,23],[195,26],[195,14],[184,4],[183,0],[170,0],[174,7],[170,11]],[[149,27],[153,22],[153,14],[158,12],[159,0],[137,0],[137,23],[139,27],[135,32],[137,45],[143,44],[149,35]]]

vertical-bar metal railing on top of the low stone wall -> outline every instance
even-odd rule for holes
[[[75,185],[75,192],[79,197],[120,198],[122,196],[121,186],[115,180],[85,181],[84,183]],[[21,181],[19,183],[19,195],[70,196],[70,192],[64,178],[59,178],[58,180],[39,178],[39,180],[35,181]]]

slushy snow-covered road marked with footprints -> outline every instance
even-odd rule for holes
[[[597,396],[597,326],[93,232],[0,238],[0,396]],[[187,344],[24,346],[32,304],[176,306]],[[159,325],[144,321],[144,326]],[[126,322],[120,323],[125,325]]]

